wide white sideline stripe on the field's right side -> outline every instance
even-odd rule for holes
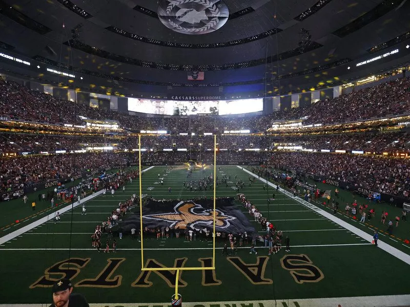
[[[258,176],[256,174],[254,174],[253,172],[241,167],[241,166],[236,166],[240,169],[242,169],[244,172],[249,173],[250,175],[252,175],[253,177],[259,179],[262,182],[268,183],[271,187],[273,187],[274,189],[276,189],[276,185],[271,183],[270,181],[267,180],[263,180],[258,178]],[[320,209],[319,207],[306,202],[305,200],[300,199],[298,196],[293,196],[292,193],[279,188],[279,191],[282,192],[283,194],[285,194],[286,196],[289,196],[289,198],[299,202],[300,204],[302,204],[305,207],[308,207],[309,209],[312,209],[313,211],[316,211],[317,213],[321,214],[322,216],[326,217],[327,219],[329,219],[330,221],[342,226],[343,228],[350,230],[351,232],[353,232],[354,234],[358,235],[359,237],[365,239],[367,242],[372,243],[373,240],[373,236],[364,232],[363,230],[356,228],[355,226],[344,222],[343,220],[341,220],[339,217],[336,217],[335,215],[333,215],[332,213],[329,213],[327,211],[324,211],[322,209]],[[246,194],[245,194],[246,195]],[[392,256],[395,256],[396,258],[404,261],[407,265],[410,265],[410,255],[398,250],[397,248],[388,245],[387,243],[382,242],[382,240],[379,238],[378,242],[377,242],[378,247],[384,251],[386,251],[387,253],[391,254]],[[376,247],[375,247],[376,248]]]

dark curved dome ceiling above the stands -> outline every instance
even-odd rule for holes
[[[0,48],[119,84],[333,84],[409,32],[403,0],[0,0]]]

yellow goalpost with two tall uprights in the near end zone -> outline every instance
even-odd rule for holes
[[[202,270],[215,270],[215,218],[216,218],[216,152],[217,152],[217,143],[216,135],[214,135],[214,148],[213,148],[213,160],[214,160],[214,172],[213,172],[213,233],[212,233],[212,266],[211,267],[181,267],[181,268],[145,268],[144,266],[144,227],[143,227],[143,215],[142,215],[142,176],[141,176],[141,134],[138,135],[138,172],[139,172],[139,217],[140,217],[140,234],[141,234],[141,271],[176,271],[175,278],[175,294],[172,296],[172,304],[179,306],[181,304],[181,295],[178,293],[178,280],[180,271],[202,271]]]

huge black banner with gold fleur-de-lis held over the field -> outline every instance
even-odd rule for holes
[[[142,206],[142,224],[150,229],[172,227],[174,229],[213,230],[213,200],[198,199],[193,201],[149,200]],[[139,210],[127,216],[119,227],[122,231],[139,229]],[[249,219],[235,205],[233,198],[216,200],[215,230],[226,233],[255,232]]]

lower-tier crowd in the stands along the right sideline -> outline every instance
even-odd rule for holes
[[[402,158],[276,151],[271,164],[386,194],[408,197],[410,192],[410,161]]]

